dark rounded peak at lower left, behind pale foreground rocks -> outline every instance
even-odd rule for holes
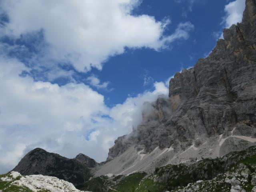
[[[90,178],[90,170],[78,160],[68,159],[55,153],[36,148],[18,163],[13,171],[22,175],[42,174],[55,176],[79,186]]]

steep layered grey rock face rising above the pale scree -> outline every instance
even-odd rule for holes
[[[224,40],[218,40],[212,53],[194,68],[176,73],[170,80],[169,97],[160,97],[152,106],[157,116],[143,118],[130,135],[119,137],[108,160],[131,146],[145,153],[172,146],[178,152],[193,144],[200,146],[204,138],[256,137],[255,0],[246,0],[242,23],[224,29]],[[226,142],[228,147],[222,145],[220,156],[248,147],[232,139]]]

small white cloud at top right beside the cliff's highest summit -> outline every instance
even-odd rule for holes
[[[223,23],[226,28],[242,21],[244,8],[245,0],[232,1],[225,6],[226,16],[223,18]]]

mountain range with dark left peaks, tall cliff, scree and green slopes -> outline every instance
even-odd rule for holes
[[[14,171],[94,192],[256,192],[256,0],[223,36],[175,74],[168,96],[144,104],[142,123],[117,138],[106,162],[36,148]]]

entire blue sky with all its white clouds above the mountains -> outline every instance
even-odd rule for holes
[[[0,173],[35,147],[106,159],[245,0],[0,1]]]

